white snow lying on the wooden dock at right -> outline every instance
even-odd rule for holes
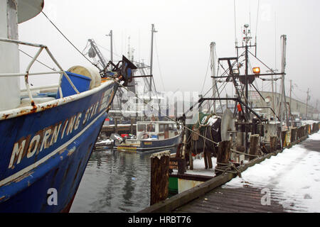
[[[307,140],[320,140],[320,133]],[[306,141],[307,141],[306,140]],[[268,188],[272,199],[279,200],[289,211],[320,212],[320,153],[307,150],[302,145],[284,149],[260,164],[242,172],[223,187]]]

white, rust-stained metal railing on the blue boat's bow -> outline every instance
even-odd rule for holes
[[[26,72],[24,72],[24,73],[18,72],[18,73],[3,73],[3,74],[0,74],[0,77],[24,77],[24,81],[25,81],[25,84],[26,84],[26,89],[25,90],[28,93],[28,96],[29,96],[31,104],[34,104],[33,96],[31,94],[31,90],[33,90],[33,89],[31,89],[30,86],[29,86],[28,76],[43,75],[43,74],[60,74],[60,79],[59,79],[59,84],[58,84],[58,92],[59,92],[61,98],[63,98],[63,92],[62,92],[62,89],[61,89],[61,81],[62,81],[63,76],[65,76],[65,78],[68,80],[68,82],[70,83],[71,87],[73,87],[75,92],[77,94],[80,93],[78,91],[78,89],[75,87],[75,84],[73,84],[73,82],[71,81],[71,79],[68,76],[68,74],[65,73],[63,68],[58,63],[58,61],[55,60],[55,57],[53,57],[52,53],[50,52],[49,48],[46,45],[36,44],[36,43],[27,43],[27,42],[23,42],[23,41],[19,41],[19,40],[11,40],[11,39],[6,39],[6,38],[0,38],[0,42],[16,43],[18,45],[28,45],[28,46],[31,46],[31,47],[39,48],[38,52],[36,52],[36,55],[34,55],[34,57],[32,58],[31,62],[28,64],[28,67],[26,68]],[[55,65],[59,68],[59,70],[53,70],[52,72],[30,72],[31,66],[33,65],[34,62],[36,62],[38,56],[41,54],[43,49],[46,50],[46,52],[48,53],[49,57],[51,58],[51,60],[53,60],[53,62],[55,62]]]

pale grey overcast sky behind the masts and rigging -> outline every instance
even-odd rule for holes
[[[259,11],[257,6],[257,0],[235,0],[235,11],[233,0],[45,0],[43,11],[81,51],[88,38],[95,39],[107,60],[110,60],[110,38],[106,34],[112,30],[114,60],[127,55],[130,37],[134,60],[149,64],[151,23],[154,23],[158,31],[154,43],[154,79],[157,89],[166,92],[177,89],[201,92],[205,78],[203,93],[210,89],[210,42],[216,43],[218,57],[235,56],[235,28],[240,41],[245,23],[250,23],[253,37],[257,34],[257,57],[280,70],[280,35],[285,34],[287,94],[292,79],[292,97],[306,101],[309,88],[315,106],[320,97],[320,1],[260,0]],[[65,70],[73,65],[90,65],[42,14],[19,25],[19,39],[48,45]],[[27,60],[21,54],[21,71]],[[41,55],[41,60],[54,67],[48,57]],[[254,60],[251,64],[260,66]],[[44,69],[35,65],[34,70]],[[33,83],[41,84],[43,80],[33,79]],[[262,89],[260,79],[257,83]],[[265,90],[270,87],[270,82],[264,82]]]

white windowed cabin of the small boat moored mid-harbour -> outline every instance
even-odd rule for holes
[[[164,140],[178,135],[174,121],[138,121],[137,139]]]

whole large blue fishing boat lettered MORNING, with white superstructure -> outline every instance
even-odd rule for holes
[[[46,45],[19,41],[18,23],[41,13],[43,4],[43,0],[0,1],[0,212],[70,210],[114,94],[131,72],[132,64],[124,58],[105,72],[110,77],[102,83],[98,70],[75,66],[65,71]],[[22,73],[21,45],[38,48]],[[31,72],[41,52],[59,70]],[[28,78],[35,74],[60,74],[59,84],[31,88]],[[23,91],[20,77],[25,79]],[[48,88],[55,94],[41,92]]]

